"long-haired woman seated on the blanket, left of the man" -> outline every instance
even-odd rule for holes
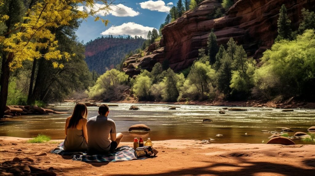
[[[84,103],[77,103],[73,113],[66,120],[65,151],[84,152],[88,149],[88,130],[86,128],[88,110]]]

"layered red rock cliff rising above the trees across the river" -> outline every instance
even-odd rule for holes
[[[243,45],[248,56],[258,59],[274,43],[282,4],[288,9],[294,29],[298,27],[302,8],[315,9],[315,0],[239,0],[226,12],[226,16],[209,19],[209,14],[221,4],[218,0],[205,0],[195,10],[184,13],[163,28],[158,54],[150,51],[124,71],[135,75],[140,72],[135,66],[150,69],[154,63],[162,63],[164,59],[169,60],[170,67],[175,71],[186,68],[198,57],[198,49],[207,47],[211,29],[214,29],[219,45],[226,45],[233,37]]]

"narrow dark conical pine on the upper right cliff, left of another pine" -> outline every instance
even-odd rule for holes
[[[287,15],[287,8],[283,4],[280,9],[279,19],[278,19],[278,37],[276,40],[290,39],[291,36],[291,20]]]

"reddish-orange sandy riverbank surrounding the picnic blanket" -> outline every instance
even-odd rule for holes
[[[0,137],[1,172],[18,173],[26,165],[57,175],[313,175],[315,145],[201,144],[198,140],[153,141],[155,158],[112,163],[84,163],[51,154],[57,146],[26,143],[26,138]],[[121,145],[132,146],[131,142]],[[45,152],[47,155],[36,156]],[[21,162],[12,162],[14,157]],[[23,158],[31,159],[23,159]],[[29,160],[29,161],[27,161]],[[33,161],[32,161],[33,160]],[[27,173],[23,171],[25,175]]]

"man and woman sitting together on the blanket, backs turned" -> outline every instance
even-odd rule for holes
[[[106,104],[100,105],[98,113],[98,116],[87,120],[86,105],[84,103],[76,104],[73,114],[66,120],[66,139],[63,145],[65,151],[88,151],[88,155],[114,152],[123,138],[123,134],[116,134],[115,122],[107,118],[109,109]]]

